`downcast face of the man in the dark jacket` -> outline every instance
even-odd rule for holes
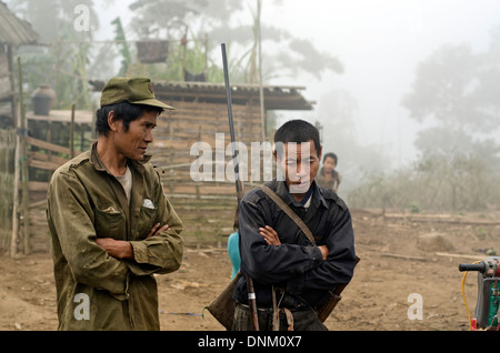
[[[321,150],[316,150],[312,140],[303,143],[286,143],[284,153],[279,157],[274,152],[278,168],[284,174],[290,193],[308,192],[318,173],[321,160]]]

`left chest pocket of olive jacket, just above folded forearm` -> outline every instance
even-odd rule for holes
[[[127,219],[123,210],[118,210],[112,205],[97,209],[94,228],[98,238],[124,240],[127,235]]]

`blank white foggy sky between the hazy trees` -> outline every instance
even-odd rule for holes
[[[128,4],[133,0],[108,2],[108,7],[101,3],[109,9],[108,13],[119,13],[123,23],[130,23]],[[248,8],[253,6],[252,1],[247,3]],[[283,75],[266,82],[304,85],[303,94],[317,102],[312,112],[281,112],[278,125],[290,118],[319,121],[324,127],[324,151],[339,155],[338,170],[342,171],[350,141],[336,141],[333,122],[349,119],[349,129],[359,144],[374,154],[367,151],[370,160],[360,161],[368,164],[364,169],[408,165],[417,158],[413,142],[421,125],[409,118],[401,100],[411,91],[418,63],[443,44],[469,44],[473,51],[487,50],[490,32],[500,26],[499,13],[500,1],[263,1],[262,23],[310,40],[320,51],[337,57],[344,67],[342,73],[327,71],[321,78],[299,73],[294,78]],[[251,22],[249,13],[241,13],[239,18]],[[100,16],[100,21],[99,38],[111,38],[106,17]],[[263,51],[272,52],[276,43],[267,42],[264,36],[262,39]],[[342,98],[338,104],[347,105],[349,117],[339,117],[339,107],[333,105],[332,97],[339,94]],[[352,167],[351,172],[360,173],[359,168]],[[358,179],[358,175],[346,175],[348,184],[349,178]]]

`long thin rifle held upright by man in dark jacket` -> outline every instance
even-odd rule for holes
[[[226,44],[221,44],[222,50],[222,63],[224,67],[224,82],[226,82],[226,97],[228,99],[228,117],[229,117],[229,131],[231,133],[231,144],[232,144],[232,157],[234,161],[234,179],[236,179],[236,188],[237,188],[237,199],[238,199],[238,209],[241,202],[241,199],[243,198],[243,191],[241,186],[241,180],[240,180],[240,168],[238,163],[238,153],[236,150],[236,138],[234,138],[234,122],[232,118],[232,99],[231,99],[231,85],[229,84],[229,70],[228,70],[228,58],[226,54]],[[251,317],[251,324],[253,331],[259,331],[259,316],[257,313],[257,299],[256,299],[256,291],[253,289],[253,281],[252,279],[246,274],[246,281],[247,281],[247,292],[248,292],[248,304],[250,306],[250,317]]]

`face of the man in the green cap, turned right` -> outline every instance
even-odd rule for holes
[[[141,118],[130,122],[128,131],[123,129],[123,121],[119,121],[114,134],[117,151],[130,160],[143,160],[148,144],[153,141],[152,129],[157,125],[157,118],[156,111],[144,112]]]

